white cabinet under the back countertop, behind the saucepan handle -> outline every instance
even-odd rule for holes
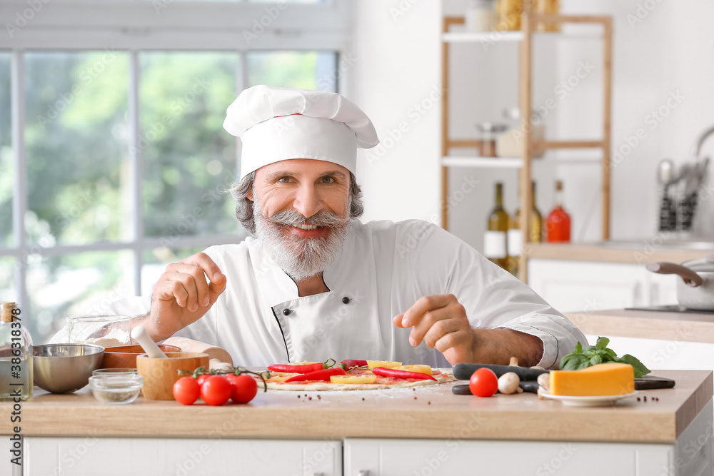
[[[676,304],[676,279],[638,264],[528,260],[528,285],[561,313]]]

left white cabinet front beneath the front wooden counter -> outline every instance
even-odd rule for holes
[[[342,474],[333,440],[27,437],[25,456],[25,476]]]

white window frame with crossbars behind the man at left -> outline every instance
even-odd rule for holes
[[[47,3],[45,3],[47,2]],[[348,1],[326,4],[238,2],[193,2],[174,0],[34,0],[31,18],[11,36],[0,34],[0,51],[11,53],[11,145],[14,190],[13,246],[0,248],[0,258],[15,259],[15,285],[19,302],[30,303],[27,263],[30,255],[67,255],[91,251],[130,250],[134,255],[134,294],[141,295],[143,253],[171,240],[171,248],[208,247],[236,243],[245,236],[144,236],[141,190],[139,123],[139,54],[141,51],[235,51],[236,91],[248,84],[249,51],[334,51],[336,63],[351,51],[351,9]],[[17,15],[30,16],[26,0],[0,4],[0,18],[15,24]],[[262,24],[261,24],[262,22]],[[261,31],[260,26],[264,27]],[[126,51],[129,59],[129,168],[131,176],[131,239],[86,245],[43,247],[28,243],[24,216],[28,210],[26,153],[24,141],[24,54],[43,50]],[[337,90],[346,91],[346,75],[337,74]],[[226,105],[227,106],[227,105]],[[236,167],[240,146],[236,139]]]

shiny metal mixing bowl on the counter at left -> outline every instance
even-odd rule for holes
[[[101,367],[104,348],[91,344],[45,344],[32,348],[34,383],[51,393],[71,393]]]

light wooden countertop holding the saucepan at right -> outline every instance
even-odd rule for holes
[[[714,343],[714,314],[618,309],[565,317],[585,334]]]

